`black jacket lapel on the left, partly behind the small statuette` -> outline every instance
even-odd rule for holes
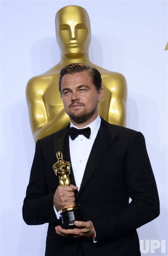
[[[72,164],[71,164],[70,152],[69,152],[69,133],[68,133],[68,131],[69,131],[69,125],[65,129],[53,134],[52,135],[52,143],[53,143],[53,147],[54,147],[56,162],[58,161],[58,159],[56,157],[56,153],[58,151],[61,151],[63,160],[68,161],[70,163],[69,180],[70,180],[71,184],[76,186],[74,175],[73,175]]]

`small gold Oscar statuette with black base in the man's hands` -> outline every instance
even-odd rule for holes
[[[56,176],[59,176],[60,186],[70,186],[69,173],[70,173],[70,163],[62,159],[62,152],[58,151],[56,153],[58,161],[53,164],[53,169]],[[78,206],[71,206],[61,209],[61,220],[63,229],[73,229],[75,220],[82,220],[81,211]]]

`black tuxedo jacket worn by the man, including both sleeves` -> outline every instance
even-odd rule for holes
[[[69,126],[36,143],[23,204],[24,221],[28,225],[49,223],[46,256],[76,255],[79,243],[87,256],[140,255],[136,229],[159,215],[158,192],[144,136],[101,120],[80,190],[75,194],[85,220],[91,220],[95,227],[94,244],[92,239],[69,239],[55,232],[61,220],[56,219],[53,208],[59,178],[52,166],[57,162],[57,151],[71,163],[68,130]],[[69,178],[75,185],[72,167]]]

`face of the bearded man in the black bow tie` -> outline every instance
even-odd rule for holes
[[[88,72],[64,75],[61,94],[65,111],[71,121],[82,124],[96,119],[97,104],[102,100],[103,88],[96,90]]]

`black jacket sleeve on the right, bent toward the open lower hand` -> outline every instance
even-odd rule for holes
[[[145,139],[136,132],[125,161],[125,182],[132,201],[116,215],[92,220],[97,241],[130,233],[159,215],[159,198]]]

